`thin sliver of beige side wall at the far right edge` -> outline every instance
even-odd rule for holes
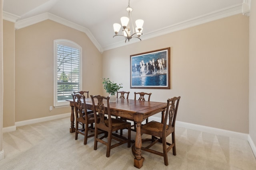
[[[249,47],[249,135],[256,145],[256,2],[251,1]],[[254,148],[255,150],[255,148]],[[255,153],[254,153],[255,154]],[[255,154],[256,156],[256,154]]]

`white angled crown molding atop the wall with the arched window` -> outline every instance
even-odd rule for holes
[[[44,20],[52,20],[58,23],[61,23],[62,25],[66,25],[68,27],[74,28],[78,31],[82,31],[84,33],[86,33],[86,35],[89,37],[89,39],[92,41],[92,43],[96,46],[96,48],[98,49],[98,51],[100,51],[100,53],[103,53],[103,49],[100,46],[100,44],[98,43],[98,41],[95,39],[95,37],[92,35],[92,33],[90,32],[90,30],[86,27],[82,27],[76,23],[70,22],[68,20],[65,20],[63,18],[60,18],[58,16],[55,16],[53,14],[50,13],[43,13],[43,14],[39,14],[37,16],[33,16],[30,18],[26,18],[24,20],[19,20],[15,23],[15,29],[21,29],[24,27],[28,27],[30,25],[33,25],[35,23],[44,21]]]

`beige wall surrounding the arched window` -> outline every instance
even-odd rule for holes
[[[53,41],[68,39],[82,47],[83,90],[102,92],[102,54],[87,35],[51,20],[15,31],[15,121],[62,113],[53,106]]]

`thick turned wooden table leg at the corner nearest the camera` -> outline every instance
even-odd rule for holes
[[[136,168],[141,168],[143,166],[144,157],[141,156],[141,133],[140,133],[140,126],[141,122],[136,122],[136,139],[135,139],[135,158],[134,158],[134,166]]]

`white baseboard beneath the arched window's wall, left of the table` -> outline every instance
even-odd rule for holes
[[[17,121],[17,122],[15,122],[15,125],[16,125],[16,127],[19,127],[19,126],[30,125],[30,124],[34,124],[34,123],[40,123],[40,122],[44,122],[44,121],[61,119],[64,117],[70,117],[70,113],[63,113],[60,115],[47,116],[47,117],[41,117],[41,118],[37,118],[37,119],[30,119],[30,120],[24,120],[24,121]]]

